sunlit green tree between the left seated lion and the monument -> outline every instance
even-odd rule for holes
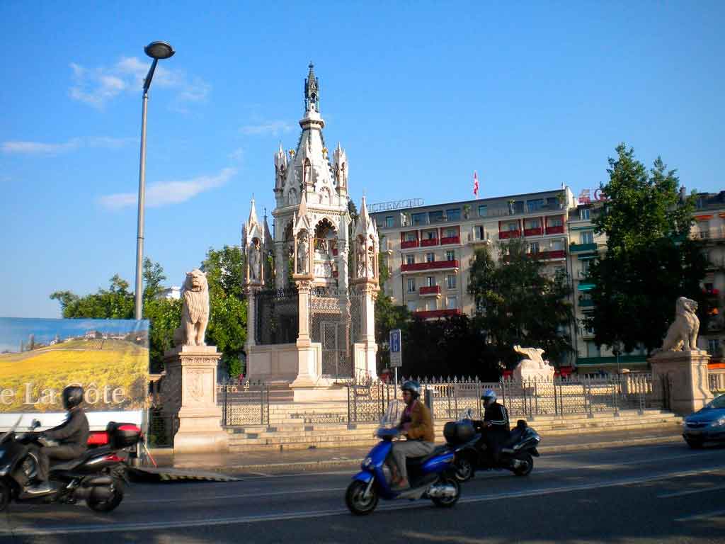
[[[202,263],[209,283],[210,320],[207,344],[223,353],[231,377],[239,376],[240,356],[247,342],[247,299],[244,297],[244,255],[239,247],[209,249]]]

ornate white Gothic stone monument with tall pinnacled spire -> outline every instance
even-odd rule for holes
[[[320,84],[305,79],[297,147],[274,154],[273,233],[252,199],[247,256],[247,378],[289,387],[294,400],[342,400],[349,379],[376,379],[376,226],[363,197],[349,211],[349,165],[323,136]]]

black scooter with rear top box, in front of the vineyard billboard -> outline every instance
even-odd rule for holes
[[[108,424],[109,444],[86,451],[80,458],[51,465],[49,493],[29,490],[38,482],[38,448],[51,445],[33,432],[40,421],[33,420],[29,432],[16,433],[20,419],[0,437],[0,511],[16,503],[77,503],[86,500],[88,508],[109,512],[123,500],[125,452],[123,448],[141,440],[141,429],[130,423]]]

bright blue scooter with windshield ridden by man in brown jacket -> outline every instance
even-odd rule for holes
[[[436,506],[451,507],[460,497],[460,485],[455,479],[454,453],[446,446],[436,448],[424,457],[407,459],[410,489],[398,491],[391,488],[392,473],[386,464],[393,440],[399,436],[397,423],[401,413],[399,403],[390,403],[376,436],[381,439],[374,446],[355,474],[345,493],[345,503],[352,514],[370,514],[378,506],[378,500],[429,498]],[[391,427],[391,425],[394,425]]]

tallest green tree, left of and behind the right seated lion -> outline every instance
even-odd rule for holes
[[[700,289],[705,258],[699,242],[689,239],[695,195],[682,199],[676,170],[658,157],[647,172],[625,144],[609,159],[609,181],[602,186],[608,202],[595,219],[607,235],[607,254],[589,274],[596,311],[586,324],[597,345],[639,345],[650,353],[661,345],[674,319],[675,301],[697,300],[701,328],[708,304]]]

